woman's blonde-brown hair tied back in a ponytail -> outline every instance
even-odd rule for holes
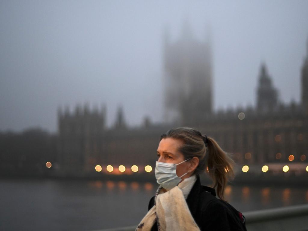
[[[224,191],[228,178],[234,178],[234,161],[229,153],[223,151],[217,142],[194,128],[172,128],[160,136],[164,138],[178,139],[183,142],[180,152],[184,159],[196,156],[199,164],[195,174],[207,172],[213,179],[213,188],[216,188],[217,196],[225,201]]]

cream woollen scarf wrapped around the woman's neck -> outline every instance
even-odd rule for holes
[[[165,193],[160,186],[155,194],[155,205],[135,231],[150,231],[155,221],[159,231],[200,231],[185,201],[196,180],[193,175]]]

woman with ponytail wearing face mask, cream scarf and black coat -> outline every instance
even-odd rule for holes
[[[234,161],[213,138],[193,128],[173,128],[160,137],[157,156],[160,186],[136,230],[246,230],[245,217],[224,200]],[[203,172],[212,177],[213,188],[201,186]]]

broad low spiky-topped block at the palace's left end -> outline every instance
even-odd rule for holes
[[[90,170],[90,166],[102,158],[106,107],[101,111],[90,111],[86,104],[75,107],[73,113],[66,107],[58,109],[58,153],[59,172],[79,175]]]

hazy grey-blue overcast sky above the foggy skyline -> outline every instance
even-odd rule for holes
[[[300,102],[308,1],[0,1],[0,130],[57,131],[57,107],[119,105],[163,121],[163,33],[188,20],[213,49],[214,110],[256,104],[265,62],[279,99]]]

